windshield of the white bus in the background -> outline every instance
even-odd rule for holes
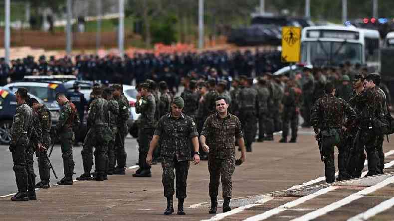
[[[359,43],[334,41],[302,42],[301,60],[314,66],[340,65],[346,61],[363,63],[362,45]]]

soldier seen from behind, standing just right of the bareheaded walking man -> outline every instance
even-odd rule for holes
[[[244,88],[239,92],[239,120],[242,123],[246,151],[252,152],[257,131],[256,115],[259,109],[257,91],[252,88],[253,79],[241,76],[240,80]]]

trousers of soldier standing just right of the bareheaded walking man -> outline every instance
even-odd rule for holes
[[[251,147],[256,138],[257,120],[256,113],[250,110],[242,110],[239,120],[242,124],[243,138],[245,139],[245,146]]]

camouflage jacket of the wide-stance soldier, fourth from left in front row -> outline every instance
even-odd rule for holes
[[[96,126],[109,126],[109,109],[108,101],[96,97],[89,106],[88,111],[88,128]]]

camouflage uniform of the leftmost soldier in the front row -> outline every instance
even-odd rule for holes
[[[10,150],[18,193],[25,194],[24,197],[27,197],[28,181],[31,178],[29,165],[32,164],[32,153],[31,150],[28,150],[28,144],[29,135],[33,130],[32,125],[33,114],[29,106],[26,104],[17,105],[11,127]]]

